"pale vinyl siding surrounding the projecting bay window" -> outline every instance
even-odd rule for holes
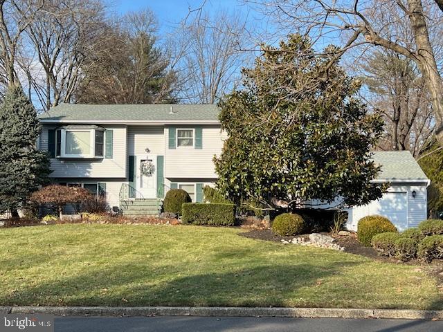
[[[53,178],[125,178],[127,162],[126,126],[106,125],[112,129],[113,156],[110,159],[59,159],[51,158],[51,177]],[[54,126],[44,126],[39,138],[39,147],[48,149],[48,129]]]

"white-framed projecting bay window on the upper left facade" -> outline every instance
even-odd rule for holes
[[[101,129],[57,129],[57,158],[103,158],[105,131]]]

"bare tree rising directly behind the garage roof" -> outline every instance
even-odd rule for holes
[[[377,50],[361,66],[368,86],[365,100],[386,120],[382,149],[418,156],[433,132],[431,100],[415,63],[390,50]]]

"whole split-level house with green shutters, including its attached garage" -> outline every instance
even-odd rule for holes
[[[60,104],[39,117],[39,149],[51,156],[57,183],[104,194],[125,214],[156,213],[165,192],[186,190],[203,201],[215,183],[213,157],[226,135],[213,104]],[[383,197],[350,209],[348,228],[368,214],[388,216],[402,230],[426,219],[428,178],[408,151],[374,153],[391,183]],[[147,166],[148,172],[142,172]]]

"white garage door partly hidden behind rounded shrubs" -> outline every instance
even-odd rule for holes
[[[387,192],[377,201],[354,208],[354,220],[357,222],[363,216],[372,214],[386,216],[398,230],[405,230],[408,227],[408,196],[406,192]]]

